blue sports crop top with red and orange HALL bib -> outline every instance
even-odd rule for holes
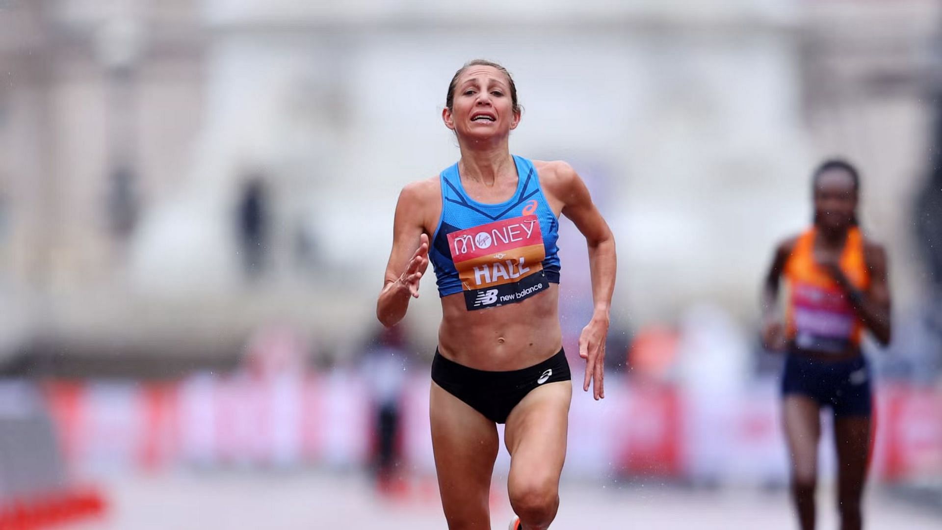
[[[439,296],[463,292],[468,310],[520,302],[560,283],[560,223],[533,162],[513,160],[517,190],[499,204],[468,197],[457,163],[440,175],[442,216],[429,257]]]

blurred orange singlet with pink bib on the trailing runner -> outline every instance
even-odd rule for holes
[[[840,354],[860,345],[863,323],[847,293],[815,262],[818,231],[812,227],[795,243],[785,264],[788,278],[788,339],[802,350]],[[864,238],[854,226],[847,233],[840,270],[858,290],[867,290],[870,274],[864,258]]]

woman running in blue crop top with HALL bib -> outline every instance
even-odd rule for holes
[[[399,194],[393,249],[377,302],[398,323],[431,261],[442,300],[431,366],[435,468],[448,528],[489,529],[488,494],[506,423],[513,530],[556,517],[572,397],[559,319],[562,213],[589,247],[594,310],[579,337],[583,390],[605,397],[603,364],[615,283],[615,241],[582,180],[565,162],[512,156],[516,87],[502,66],[465,64],[451,79],[445,125],[461,158]]]

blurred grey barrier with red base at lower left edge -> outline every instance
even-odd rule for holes
[[[0,383],[0,529],[39,529],[105,512],[97,490],[69,479],[45,405],[35,385]]]

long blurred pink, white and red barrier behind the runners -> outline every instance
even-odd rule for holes
[[[64,455],[81,476],[169,467],[358,467],[374,433],[361,373],[203,374],[173,383],[50,382],[44,395]],[[773,379],[739,395],[694,395],[611,376],[606,399],[575,389],[567,476],[656,478],[712,484],[782,484],[786,451]],[[942,391],[877,386],[872,476],[882,482],[942,476]],[[401,398],[398,439],[406,469],[431,473],[429,377]],[[833,476],[825,421],[821,471]],[[498,459],[497,470],[506,464]]]

